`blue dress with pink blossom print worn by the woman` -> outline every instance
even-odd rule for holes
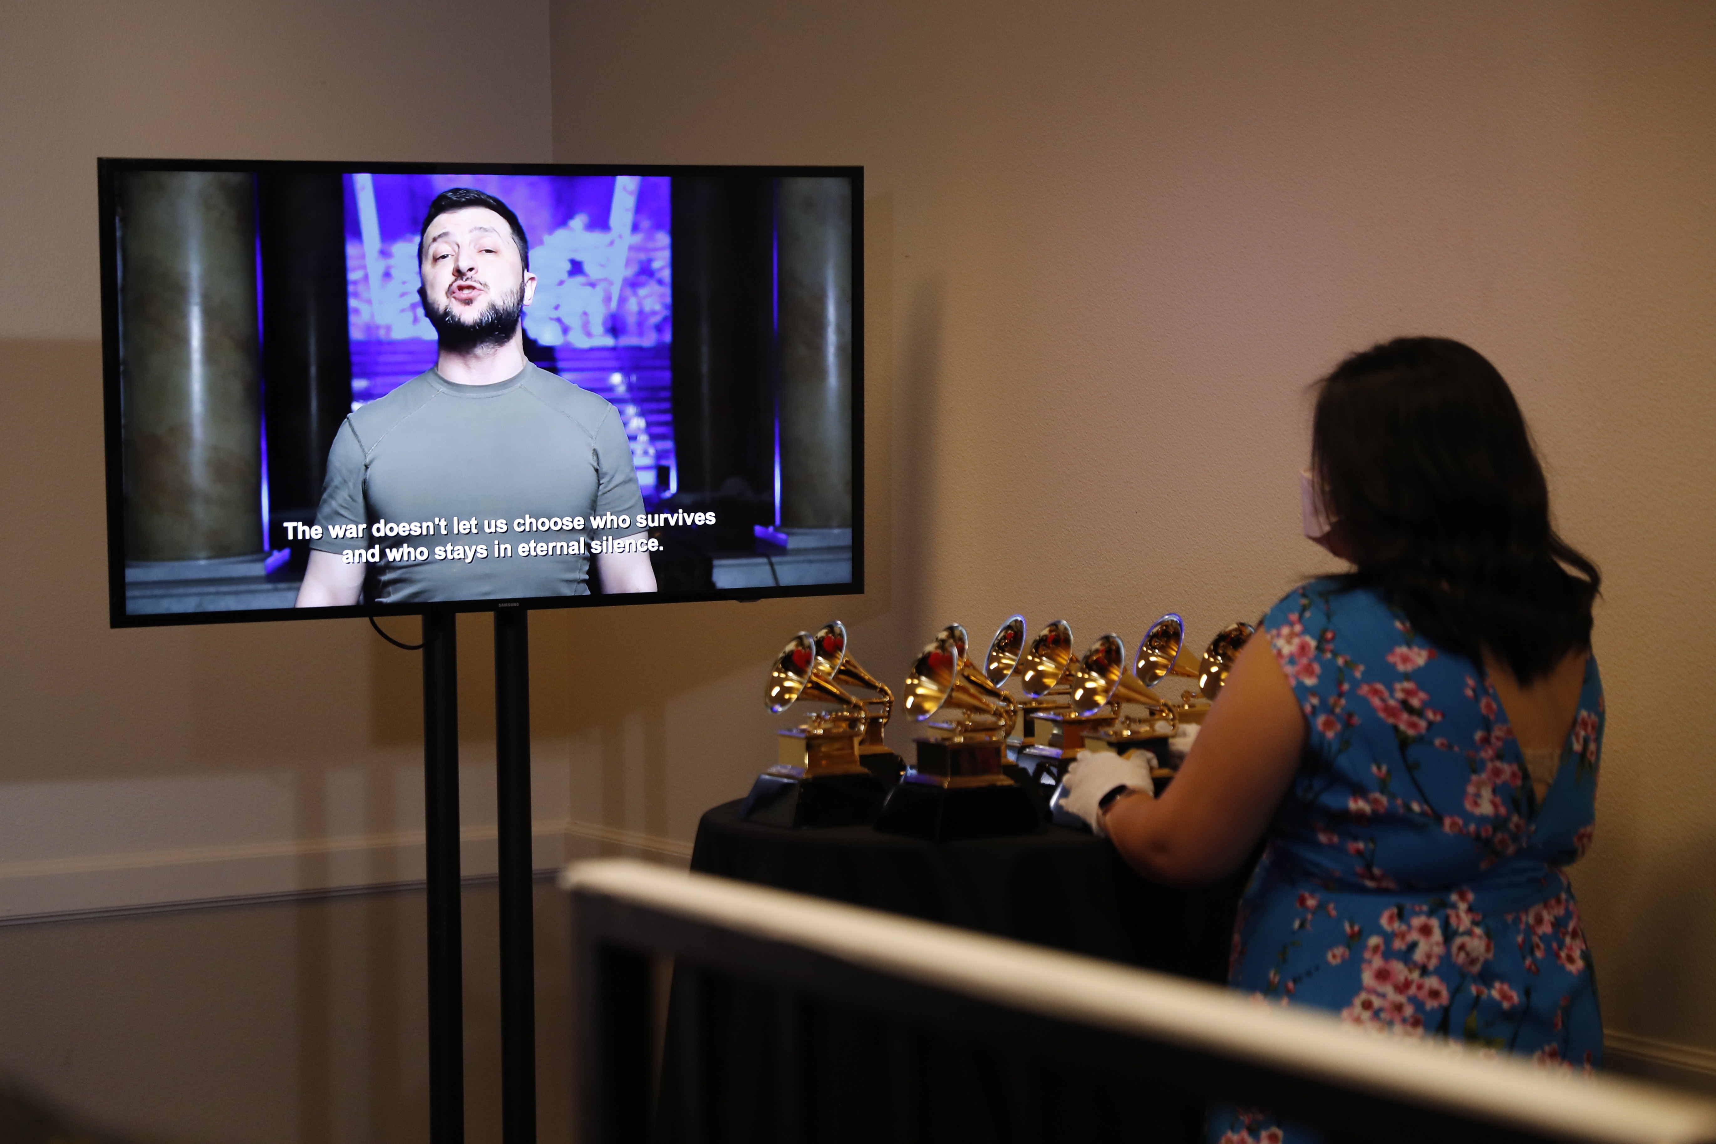
[[[1368,1029],[1599,1067],[1591,954],[1562,873],[1596,816],[1596,657],[1539,803],[1484,667],[1433,647],[1376,592],[1311,581],[1260,635],[1309,741],[1239,906],[1229,984]],[[1210,1135],[1282,1139],[1234,1110],[1211,1115]]]

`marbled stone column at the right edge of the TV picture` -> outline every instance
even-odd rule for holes
[[[851,184],[779,190],[781,527],[851,528]]]

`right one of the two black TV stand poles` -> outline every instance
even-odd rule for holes
[[[494,784],[501,835],[501,1141],[505,1144],[535,1144],[529,616],[523,607],[494,611]]]

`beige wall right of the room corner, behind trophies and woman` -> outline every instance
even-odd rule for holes
[[[873,590],[637,617],[712,648],[645,726],[733,727],[669,753],[671,828],[680,774],[757,767],[765,655],[825,612],[889,677],[949,619],[1256,617],[1321,566],[1302,386],[1448,334],[1606,575],[1606,1017],[1716,1050],[1713,106],[1706,3],[556,5],[556,161],[867,168]]]

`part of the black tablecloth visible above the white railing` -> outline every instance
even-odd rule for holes
[[[692,870],[942,921],[1203,981],[1227,979],[1249,871],[1177,890],[1133,873],[1107,839],[1036,834],[920,842],[870,827],[782,830],[722,803],[697,827]]]

